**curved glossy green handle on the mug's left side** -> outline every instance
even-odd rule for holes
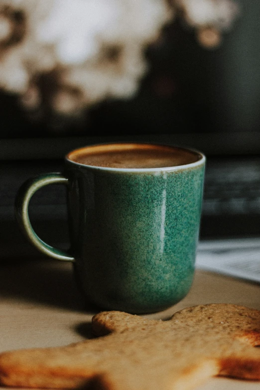
[[[29,201],[38,189],[48,184],[68,185],[68,179],[61,173],[47,173],[25,181],[15,198],[14,210],[17,222],[26,238],[44,255],[48,255],[57,260],[74,261],[75,259],[67,252],[44,243],[31,226],[28,214]]]

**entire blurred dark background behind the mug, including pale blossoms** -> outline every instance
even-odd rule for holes
[[[37,253],[15,194],[75,147],[114,140],[207,155],[201,240],[260,236],[260,2],[0,0],[0,258]],[[32,225],[67,247],[66,194]]]

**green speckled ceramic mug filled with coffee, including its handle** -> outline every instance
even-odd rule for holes
[[[43,254],[71,261],[87,301],[101,309],[156,312],[179,302],[194,274],[205,156],[149,143],[86,146],[68,153],[63,173],[25,182],[17,220]],[[32,195],[67,187],[71,247],[44,243],[28,216]]]

